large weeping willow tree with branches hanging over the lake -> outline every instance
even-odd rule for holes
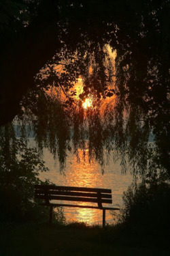
[[[8,26],[3,32],[5,37],[1,48],[5,48],[5,55],[10,53],[9,59],[12,61],[3,55],[5,57],[2,58],[1,70],[2,77],[5,76],[3,84],[6,86],[3,86],[1,102],[3,106],[7,106],[8,111],[1,117],[2,124],[18,113],[16,106],[19,102],[22,102],[24,109],[27,109],[27,106],[28,109],[31,107],[32,113],[28,112],[33,114],[32,117],[37,116],[34,123],[39,147],[48,145],[54,155],[58,152],[59,159],[64,162],[65,150],[69,149],[68,141],[71,138],[70,124],[76,131],[73,134],[74,151],[77,152],[76,149],[80,144],[84,147],[81,132],[84,129],[82,110],[80,108],[80,112],[76,113],[70,111],[73,97],[69,96],[69,100],[61,104],[58,98],[47,96],[45,90],[50,84],[56,89],[62,88],[67,94],[67,91],[73,87],[73,82],[81,75],[84,79],[82,99],[91,90],[97,99],[113,94],[116,96],[116,104],[114,108],[107,108],[107,113],[103,116],[104,121],[99,118],[99,108],[93,112],[88,111],[90,156],[99,160],[103,165],[103,146],[107,147],[108,152],[114,147],[117,153],[120,152],[117,156],[122,156],[123,165],[126,156],[129,158],[134,173],[140,172],[143,175],[145,169],[150,169],[151,167],[148,167],[150,158],[153,159],[151,169],[163,169],[169,173],[169,1],[124,0],[121,3],[120,1],[107,1],[107,4],[95,0],[73,1],[73,3],[71,1],[20,1],[20,3],[24,3],[22,10],[29,10],[31,6],[34,6],[34,12],[28,11],[29,15],[33,15],[30,15],[29,23],[27,19],[26,26],[23,21],[20,22],[22,29],[16,29],[14,25],[17,19],[13,16],[12,27],[14,29],[7,33]],[[48,12],[44,12],[46,8]],[[50,22],[44,25],[43,21],[47,16],[50,17]],[[56,18],[57,25],[55,25]],[[50,29],[46,30],[46,26],[50,26]],[[39,39],[44,38],[44,33],[36,33],[36,36],[33,33],[39,27],[43,27],[43,31],[47,31],[46,33],[52,40],[48,40],[45,36],[43,46],[39,44]],[[16,31],[19,37],[16,36]],[[27,51],[25,44],[28,40],[23,39],[25,34],[33,42],[35,51]],[[54,45],[52,42],[56,34],[58,44]],[[6,46],[9,35],[12,37],[15,35],[13,41],[15,44],[12,42]],[[22,46],[19,47],[22,51],[18,53],[23,56],[17,65],[14,54],[16,44]],[[112,67],[107,68],[105,65],[106,44],[116,50],[116,70]],[[11,52],[8,51],[9,46],[12,48]],[[54,57],[55,49],[59,49],[56,57]],[[45,50],[46,57],[44,54],[41,55]],[[28,58],[28,66],[26,66],[29,67],[27,74],[23,65],[26,58]],[[48,79],[43,79],[43,77],[37,79],[35,91],[25,96],[25,90],[33,85],[33,76],[47,60],[48,68],[50,67]],[[65,72],[59,76],[57,72],[54,72],[54,66],[61,60],[66,60],[68,63],[64,65]],[[9,62],[12,72],[15,63],[16,68],[19,67],[20,73],[23,74],[18,80],[18,72],[14,69],[16,83],[12,83],[6,75]],[[4,65],[4,63],[7,64]],[[92,66],[91,74],[88,72],[90,66]],[[28,83],[23,82],[25,77]],[[23,83],[25,84],[24,91],[20,89]],[[19,89],[16,96],[12,93],[7,94],[13,85],[14,88]],[[110,91],[111,86],[112,91]],[[37,96],[35,97],[34,94]],[[23,95],[24,98],[20,101]],[[15,102],[14,113],[11,108],[9,109],[9,102],[12,99]],[[44,113],[44,116],[41,115],[39,106],[46,108],[46,115]],[[54,118],[54,113],[58,119]],[[124,113],[126,113],[126,119]],[[65,129],[62,130],[62,128]],[[150,131],[155,135],[156,147],[154,149],[148,148]]]

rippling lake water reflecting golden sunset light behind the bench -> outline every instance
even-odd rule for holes
[[[112,205],[109,207],[122,206],[122,194],[132,182],[132,175],[121,173],[120,162],[114,163],[110,160],[109,165],[105,166],[105,172],[102,174],[101,167],[96,162],[89,164],[88,160],[82,160],[82,152],[80,151],[80,162],[72,154],[67,158],[67,165],[64,173],[60,173],[59,165],[54,161],[52,154],[44,149],[44,160],[46,167],[50,171],[41,173],[41,180],[50,180],[50,182],[58,186],[81,186],[92,188],[111,188],[112,189]],[[74,203],[75,204],[75,203]],[[80,204],[80,203],[79,203]],[[86,203],[82,203],[86,204]],[[88,203],[89,205],[89,203]],[[102,224],[102,210],[85,209],[85,208],[64,208],[67,221],[85,222],[88,225]],[[106,223],[113,223],[112,213],[106,211]]]

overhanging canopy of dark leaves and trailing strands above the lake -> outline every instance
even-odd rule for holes
[[[3,23],[5,35],[11,28],[14,34],[27,31],[40,14],[45,15],[46,1],[11,2],[14,10],[18,10],[16,3],[24,4],[19,9],[29,18],[25,23],[25,16],[11,18],[14,10],[6,14],[5,20],[11,20],[12,25]],[[101,166],[105,151],[108,156],[114,152],[114,159],[121,158],[124,170],[129,161],[134,174],[153,169],[169,173],[169,0],[49,1],[46,6],[50,13],[54,10],[49,26],[54,23],[55,29],[48,31],[52,38],[56,32],[58,43],[51,47],[56,53],[49,46],[41,48],[41,34],[36,43],[31,41],[50,55],[44,52],[44,59],[35,55],[29,59],[29,67],[27,61],[20,63],[21,74],[28,68],[26,89],[33,86],[33,75],[35,84],[27,94],[26,89],[20,89],[19,96],[10,97],[16,97],[22,107],[18,123],[22,127],[30,124],[39,150],[48,147],[54,157],[58,156],[61,168],[67,150],[73,149],[78,156],[78,148],[85,152],[88,146],[89,160],[97,160]],[[16,25],[18,18],[22,29]],[[45,40],[44,45],[47,43]],[[21,88],[27,79],[16,74]],[[76,97],[75,84],[80,77],[83,91]],[[2,99],[5,97],[3,89]],[[93,106],[84,111],[86,97],[92,97]],[[154,146],[148,144],[150,132]]]

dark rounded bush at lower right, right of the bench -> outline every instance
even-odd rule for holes
[[[146,178],[124,193],[122,222],[135,233],[169,233],[169,184],[160,177]]]

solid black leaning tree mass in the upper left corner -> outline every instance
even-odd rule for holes
[[[34,87],[34,76],[60,48],[56,5],[1,0],[1,124],[14,119],[22,96]]]

